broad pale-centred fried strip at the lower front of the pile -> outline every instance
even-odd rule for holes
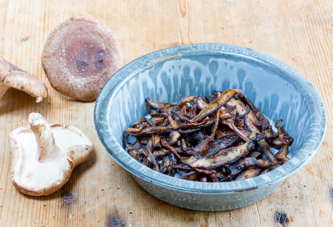
[[[254,144],[252,142],[247,141],[237,147],[223,149],[214,156],[197,159],[191,163],[188,163],[188,165],[193,168],[203,166],[207,169],[214,169],[224,164],[239,160],[240,158],[247,155],[253,146]]]

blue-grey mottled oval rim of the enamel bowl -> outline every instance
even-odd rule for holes
[[[146,71],[154,67],[157,63],[199,53],[235,55],[264,64],[266,67],[271,66],[271,68],[280,73],[284,79],[291,80],[300,87],[300,90],[309,105],[310,129],[305,143],[294,157],[282,166],[266,174],[240,181],[215,183],[193,182],[158,173],[157,171],[142,165],[125,151],[123,146],[119,144],[113,136],[112,129],[110,125],[107,124],[108,115],[104,114],[108,112],[109,105],[112,102],[112,99],[116,96],[118,89],[133,75]],[[98,138],[105,150],[119,165],[131,174],[166,188],[215,194],[241,192],[243,190],[263,187],[265,185],[283,181],[288,176],[297,172],[311,160],[321,146],[327,129],[327,115],[324,102],[315,87],[302,74],[284,62],[246,47],[221,43],[199,43],[158,50],[141,56],[118,70],[106,82],[97,97],[94,109],[94,124]]]

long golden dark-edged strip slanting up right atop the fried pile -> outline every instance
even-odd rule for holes
[[[238,89],[229,89],[222,93],[221,97],[212,101],[209,103],[205,108],[203,108],[198,115],[196,115],[193,119],[191,119],[189,122],[196,122],[200,121],[209,114],[213,113],[217,109],[219,109],[221,106],[226,104],[231,98],[233,98],[235,95],[241,96],[242,91]]]

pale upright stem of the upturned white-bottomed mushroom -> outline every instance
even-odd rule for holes
[[[54,141],[50,126],[44,117],[39,113],[31,113],[29,115],[29,123],[31,130],[36,137],[37,161],[40,163],[47,163],[48,161],[51,162],[61,149]]]

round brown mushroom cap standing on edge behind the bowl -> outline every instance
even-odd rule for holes
[[[42,54],[51,86],[82,101],[96,100],[122,65],[123,54],[115,32],[89,17],[72,17],[55,27]]]

